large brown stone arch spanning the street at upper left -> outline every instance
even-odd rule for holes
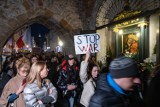
[[[73,0],[0,1],[0,47],[17,30],[32,23],[40,23],[55,31],[57,36],[68,39],[82,29],[76,2]]]

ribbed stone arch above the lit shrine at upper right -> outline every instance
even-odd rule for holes
[[[109,21],[124,10],[127,2],[131,10],[142,12],[159,8],[160,3],[158,0],[103,0],[96,14],[96,27],[108,24]]]

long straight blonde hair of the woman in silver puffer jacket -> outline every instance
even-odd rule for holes
[[[41,88],[42,80],[40,77],[40,72],[43,70],[45,66],[46,66],[45,61],[38,61],[33,63],[31,66],[30,72],[27,76],[27,83],[31,84],[36,80],[38,87]]]

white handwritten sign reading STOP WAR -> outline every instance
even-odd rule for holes
[[[99,34],[83,34],[74,36],[76,54],[85,54],[88,50],[91,53],[100,51],[100,35]]]

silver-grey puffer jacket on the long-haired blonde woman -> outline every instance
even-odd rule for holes
[[[48,90],[51,89],[52,93],[48,94]],[[24,100],[26,107],[45,107],[44,104],[39,104],[38,100],[41,100],[45,96],[51,96],[55,103],[57,100],[57,90],[51,82],[46,83],[45,80],[42,82],[42,88],[39,88],[37,82],[34,81],[31,84],[27,84],[24,88]]]

